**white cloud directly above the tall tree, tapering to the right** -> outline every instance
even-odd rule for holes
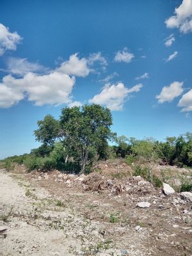
[[[128,89],[123,83],[118,83],[116,85],[106,84],[102,89],[102,92],[95,95],[89,102],[105,105],[113,111],[118,111],[123,108],[127,95],[132,92],[139,92],[142,86],[142,84],[137,84]]]

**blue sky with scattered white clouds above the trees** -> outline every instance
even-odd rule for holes
[[[0,158],[38,147],[45,115],[92,102],[118,135],[191,132],[192,0],[0,5]]]

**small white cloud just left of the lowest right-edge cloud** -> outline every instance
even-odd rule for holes
[[[182,85],[183,82],[173,82],[169,86],[164,86],[161,93],[156,96],[156,99],[159,103],[171,102],[183,92]]]

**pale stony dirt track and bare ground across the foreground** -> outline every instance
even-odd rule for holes
[[[156,205],[137,209],[133,195],[87,193],[51,176],[31,179],[0,170],[0,181],[8,228],[1,237],[3,256],[191,255],[191,222],[184,223],[170,207],[173,198],[158,191],[140,198],[156,198]]]

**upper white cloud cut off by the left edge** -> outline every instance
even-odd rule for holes
[[[22,38],[17,32],[11,33],[9,28],[6,28],[0,23],[0,56],[6,51],[15,51],[17,49],[17,44],[19,44],[21,40]]]

